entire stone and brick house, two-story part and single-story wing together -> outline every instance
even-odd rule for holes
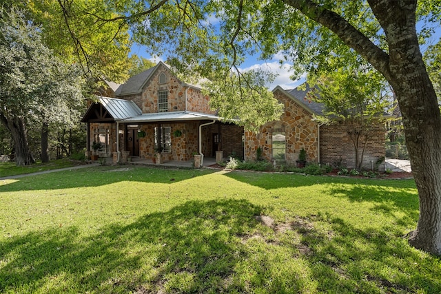
[[[285,110],[280,120],[260,127],[260,132],[225,123],[209,108],[201,87],[178,79],[162,62],[119,85],[108,87],[92,103],[81,120],[88,127],[88,156],[93,142],[100,142],[101,156],[124,162],[127,156],[168,160],[193,160],[193,154],[216,157],[234,154],[245,160],[260,158],[296,165],[301,149],[307,162],[355,167],[355,150],[345,125],[336,121],[319,125],[314,114],[324,106],[305,99],[307,90],[283,90],[274,96]],[[384,157],[384,124],[371,127],[365,148],[365,164],[373,167]],[[217,152],[216,152],[217,151]]]

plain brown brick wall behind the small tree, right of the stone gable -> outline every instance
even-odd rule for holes
[[[324,165],[340,165],[347,168],[356,167],[355,147],[343,123],[333,123],[320,127],[320,162]],[[375,123],[369,129],[369,140],[363,157],[363,168],[375,168],[376,161],[386,154],[384,145],[386,130],[384,123]],[[360,154],[364,141],[358,148]],[[359,156],[360,158],[360,156]]]

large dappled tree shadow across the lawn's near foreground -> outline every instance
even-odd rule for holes
[[[440,260],[411,249],[398,229],[321,213],[265,230],[260,213],[247,200],[189,201],[99,233],[14,236],[0,247],[0,292],[441,292]]]

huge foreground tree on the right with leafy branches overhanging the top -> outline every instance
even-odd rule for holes
[[[416,30],[417,17],[431,15],[439,22],[440,14],[431,11],[439,12],[440,6],[440,1],[418,5],[417,0],[125,0],[111,8],[118,13],[116,17],[94,15],[103,23],[130,23],[134,41],[156,54],[167,52],[175,57],[181,64],[178,70],[217,77],[212,85],[218,89],[236,72],[237,78],[229,81],[238,85],[238,91],[219,95],[223,103],[248,94],[242,91],[244,87],[260,92],[262,79],[238,70],[247,54],[260,52],[266,59],[282,52],[294,62],[295,74],[320,75],[333,70],[328,56],[352,63],[356,52],[356,64],[366,61],[387,79],[402,112],[420,196],[420,218],[409,242],[441,255],[441,116]],[[240,117],[244,109],[260,112],[253,99],[243,101],[245,107],[230,105],[229,115]]]

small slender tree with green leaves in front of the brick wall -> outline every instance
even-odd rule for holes
[[[320,124],[335,123],[345,125],[347,134],[355,150],[356,169],[361,170],[365,148],[371,139],[372,126],[383,120],[384,80],[378,72],[336,72],[320,76],[308,93],[311,100],[323,103],[325,111],[316,116]]]

